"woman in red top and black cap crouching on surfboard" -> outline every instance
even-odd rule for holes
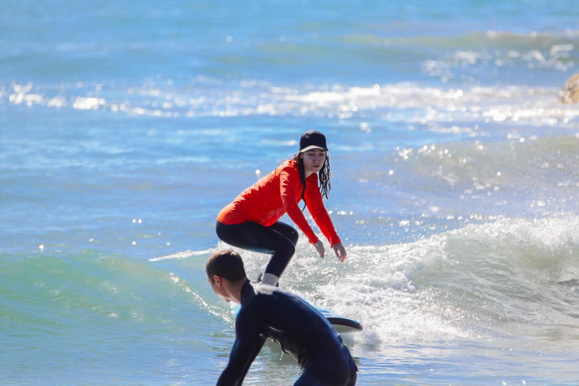
[[[331,189],[327,153],[323,133],[316,130],[303,133],[299,152],[293,159],[244,190],[217,216],[215,230],[219,239],[235,247],[272,255],[262,278],[265,284],[277,284],[298,242],[295,228],[279,221],[284,213],[324,258],[323,243],[307,223],[303,209],[299,209],[301,200],[305,201],[340,263],[346,260],[346,249],[322,201],[322,196],[328,198]]]

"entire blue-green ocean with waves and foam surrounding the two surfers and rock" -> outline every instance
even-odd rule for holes
[[[358,384],[577,384],[576,72],[567,0],[0,2],[0,384],[214,384],[215,217],[309,129],[348,259],[281,286],[364,325]]]

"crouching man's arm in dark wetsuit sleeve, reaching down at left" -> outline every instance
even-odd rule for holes
[[[229,355],[229,362],[217,381],[218,386],[243,383],[245,374],[265,342],[265,338],[259,336],[260,326],[255,312],[241,309],[235,321],[235,342]]]

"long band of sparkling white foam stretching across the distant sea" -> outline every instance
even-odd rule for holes
[[[538,58],[538,54],[529,54]],[[469,56],[470,57],[470,56]],[[534,59],[534,60],[535,60]],[[445,123],[453,121],[501,122],[525,125],[559,125],[577,127],[573,123],[579,108],[556,101],[557,88],[527,88],[522,86],[479,87],[461,89],[424,87],[402,82],[392,85],[343,88],[330,90],[278,88],[267,84],[223,92],[206,90],[205,94],[186,94],[179,90],[131,88],[137,93],[130,99],[118,100],[92,96],[107,91],[98,85],[89,95],[50,95],[32,93],[34,85],[12,85],[9,103],[71,107],[76,110],[104,109],[133,115],[160,116],[248,116],[248,115],[313,115],[326,118],[351,119],[373,116],[391,122]],[[83,88],[85,86],[83,85]],[[37,87],[38,88],[38,87]],[[255,89],[257,88],[257,89]],[[38,88],[38,89],[42,89]],[[74,92],[76,88],[70,91]],[[158,100],[142,99],[156,97]],[[71,103],[68,103],[71,100]],[[456,126],[456,125],[450,125]],[[446,129],[447,132],[449,129]],[[371,131],[368,131],[371,132]],[[472,133],[470,133],[472,134]]]

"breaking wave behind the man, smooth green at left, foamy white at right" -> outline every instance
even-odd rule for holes
[[[554,354],[546,347],[579,343],[577,235],[579,218],[572,215],[497,219],[415,242],[350,247],[343,265],[329,253],[325,260],[313,257],[301,241],[281,283],[362,322],[363,332],[346,337],[361,356],[453,341],[512,341],[519,355],[548,356]],[[152,261],[97,250],[3,254],[6,374],[41,381],[41,369],[58,374],[74,366],[67,375],[74,381],[107,366],[109,380],[128,381],[149,379],[152,366],[164,383],[207,371],[193,358],[207,349],[226,354],[233,334],[232,311],[204,278],[206,258],[220,247],[226,245]],[[264,254],[239,252],[250,277],[267,263]],[[216,333],[223,328],[225,334]],[[270,349],[262,360],[279,355]],[[25,362],[39,370],[19,378]]]

